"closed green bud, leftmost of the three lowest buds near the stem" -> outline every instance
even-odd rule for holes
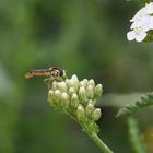
[[[85,119],[85,110],[81,104],[76,108],[78,120],[83,121]]]

